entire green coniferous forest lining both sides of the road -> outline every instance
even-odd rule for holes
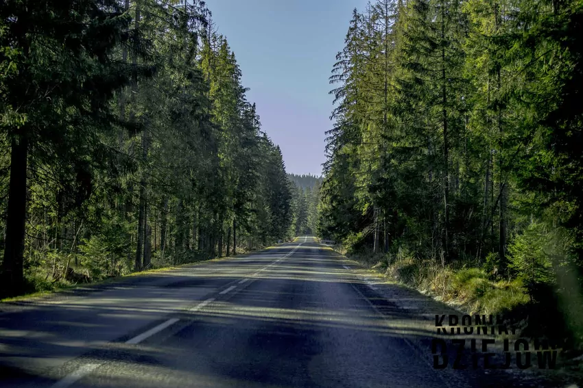
[[[0,14],[0,297],[317,234],[582,346],[583,0],[355,10],[322,178],[287,174],[203,1]]]

